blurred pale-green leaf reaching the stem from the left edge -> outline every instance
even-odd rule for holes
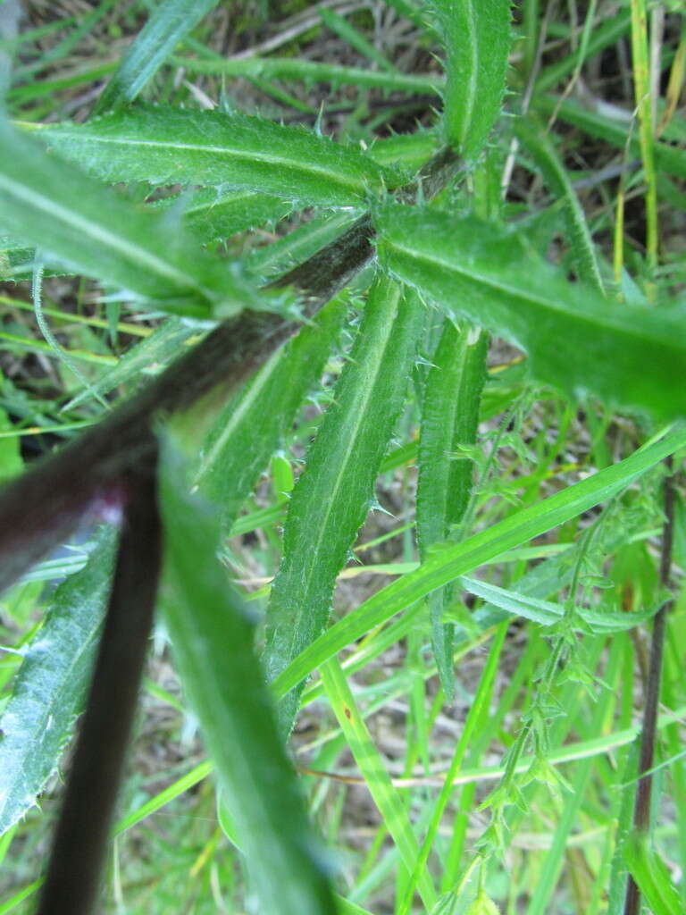
[[[78,272],[167,311],[228,317],[260,303],[252,286],[180,227],[48,156],[1,118],[0,225]]]

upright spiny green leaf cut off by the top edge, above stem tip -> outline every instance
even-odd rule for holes
[[[509,0],[429,0],[443,35],[445,139],[468,161],[500,113],[510,46]]]

